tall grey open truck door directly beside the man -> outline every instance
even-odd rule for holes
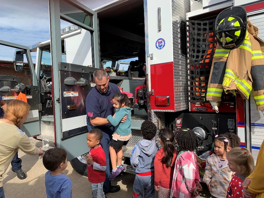
[[[92,74],[100,67],[97,14],[75,0],[49,0],[49,15],[55,146],[64,148],[67,159],[72,160],[88,151],[85,99],[95,85]],[[66,59],[62,62],[61,21],[90,32],[89,42],[83,42],[91,45],[92,67],[66,63]],[[82,49],[78,50],[72,60],[82,54]],[[69,60],[67,52],[65,56]]]

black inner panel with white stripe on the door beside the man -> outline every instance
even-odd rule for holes
[[[95,70],[93,67],[59,62],[62,140],[88,132],[85,99],[95,85],[91,83]],[[85,140],[82,141],[85,143]]]

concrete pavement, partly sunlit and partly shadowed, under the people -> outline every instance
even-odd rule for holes
[[[34,138],[30,138],[31,142],[37,147],[42,146],[41,141]],[[12,172],[11,165],[7,171],[3,174],[3,187],[6,198],[9,197],[34,197],[34,198],[46,198],[45,192],[45,173],[46,168],[43,166],[42,157],[30,156],[22,151],[18,151],[18,157],[22,159],[22,169],[26,173],[27,178],[20,180],[17,178],[16,173]],[[71,178],[73,187],[73,198],[92,197],[91,183],[86,176],[79,175],[68,162],[68,167],[63,171],[65,175]],[[108,198],[125,198],[132,197],[134,175],[129,173],[123,173],[121,176],[115,178],[112,181],[112,185],[120,185],[121,190],[116,193],[107,193]],[[203,185],[203,191],[201,197],[209,198],[210,194],[206,185]],[[155,192],[155,198],[158,197],[158,193]]]

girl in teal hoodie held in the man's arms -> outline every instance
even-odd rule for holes
[[[115,127],[112,135],[109,151],[112,163],[112,173],[109,179],[116,178],[125,166],[122,165],[123,151],[122,146],[126,145],[131,138],[131,103],[126,94],[117,93],[112,98],[115,114],[107,116],[107,120]],[[122,118],[127,115],[126,122],[120,123]]]

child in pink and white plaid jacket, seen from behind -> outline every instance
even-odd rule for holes
[[[176,142],[181,148],[173,173],[170,198],[194,198],[200,197],[199,169],[194,154],[197,148],[197,137],[190,129],[181,129],[176,134]]]

